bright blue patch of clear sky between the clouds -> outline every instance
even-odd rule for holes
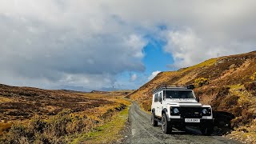
[[[149,77],[154,71],[173,70],[173,68],[170,68],[168,65],[173,64],[174,60],[171,54],[163,50],[163,47],[166,46],[166,42],[154,39],[154,37],[150,35],[146,36],[146,39],[148,43],[142,50],[144,54],[142,62],[146,67],[145,70],[143,72],[125,72],[118,76],[118,81],[127,82],[126,89],[137,89],[139,86],[150,81]],[[131,81],[130,78],[133,74],[136,74],[137,78]],[[122,89],[123,86],[117,84],[117,88]]]

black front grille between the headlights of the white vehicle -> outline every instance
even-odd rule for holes
[[[181,107],[182,118],[202,118],[202,110],[198,107]]]

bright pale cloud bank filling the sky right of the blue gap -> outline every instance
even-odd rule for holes
[[[154,34],[166,40],[165,50],[174,56],[174,65],[183,67],[217,54],[255,50],[255,5],[253,0],[122,1],[122,5],[114,3],[116,8],[111,10],[149,31],[154,26],[167,26]]]

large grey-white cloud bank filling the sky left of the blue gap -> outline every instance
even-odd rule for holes
[[[1,82],[99,89],[112,86],[122,72],[142,72],[146,39],[118,22],[103,3],[1,2]]]

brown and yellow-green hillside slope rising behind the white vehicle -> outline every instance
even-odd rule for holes
[[[163,84],[194,84],[198,78],[208,78],[208,84],[194,89],[203,104],[215,111],[234,114],[232,126],[238,131],[256,136],[256,86],[250,77],[256,72],[256,51],[212,58],[178,71],[159,73],[140,87],[130,98],[150,110],[152,90]],[[247,138],[247,135],[245,136]]]

